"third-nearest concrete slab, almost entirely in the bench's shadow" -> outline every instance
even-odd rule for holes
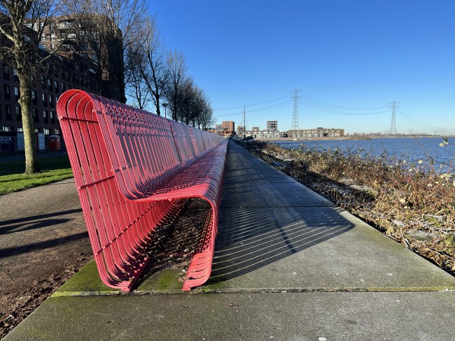
[[[228,183],[224,184],[221,197],[222,208],[308,206],[335,205],[299,182],[266,185],[261,182]]]

